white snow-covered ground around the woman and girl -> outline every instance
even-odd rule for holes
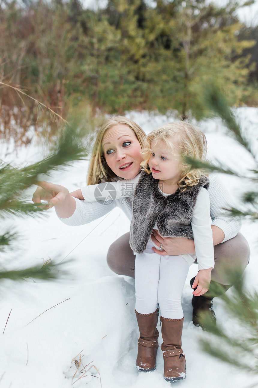
[[[237,114],[255,144],[258,109],[240,108]],[[128,113],[128,117],[146,132],[174,120],[169,116],[135,112]],[[241,172],[252,167],[248,154],[225,134],[218,120],[203,120],[200,126],[206,132],[212,159],[219,159]],[[10,155],[3,157],[4,150],[2,146],[1,158],[15,163],[38,160],[42,152],[37,147],[20,149],[14,160]],[[85,185],[86,170],[87,161],[73,163],[66,171],[55,172],[51,180],[73,191]],[[238,201],[243,182],[225,176],[222,180]],[[43,263],[48,258],[56,263],[70,260],[66,264],[69,275],[58,282],[28,279],[0,283],[2,333],[11,311],[5,332],[0,336],[0,388],[170,386],[163,379],[160,348],[157,369],[149,373],[137,371],[134,282],[114,274],[106,264],[111,242],[129,230],[129,221],[123,212],[116,208],[106,217],[78,227],[61,223],[53,209],[47,213],[41,218],[15,218],[10,222],[22,236],[22,248],[20,244],[19,249],[5,255],[1,264],[11,268]],[[246,269],[248,286],[258,291],[257,226],[244,222],[241,232],[251,246],[251,260]],[[192,265],[182,301],[187,378],[176,385],[243,388],[256,383],[257,378],[213,359],[198,347],[198,338],[204,334],[191,322],[189,284],[196,272],[197,266]],[[221,302],[215,300],[214,305],[218,322],[230,328],[234,322],[222,309]]]

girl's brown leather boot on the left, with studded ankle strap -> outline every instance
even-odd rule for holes
[[[156,357],[159,332],[157,331],[158,314],[157,308],[151,314],[139,314],[135,310],[140,337],[138,339],[138,356],[136,367],[139,371],[150,372],[156,369]]]

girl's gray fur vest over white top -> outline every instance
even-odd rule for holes
[[[163,237],[193,239],[191,218],[201,187],[208,188],[208,178],[202,176],[189,191],[179,191],[168,196],[159,190],[159,181],[142,171],[133,198],[133,218],[130,226],[130,246],[143,253],[152,229],[157,223]]]

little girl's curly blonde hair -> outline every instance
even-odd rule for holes
[[[164,142],[170,153],[181,156],[181,176],[178,181],[180,191],[188,190],[189,186],[198,184],[199,178],[203,175],[208,175],[207,171],[202,168],[192,168],[191,165],[184,160],[185,156],[192,159],[198,159],[202,162],[207,162],[207,140],[204,133],[196,125],[192,125],[185,121],[178,121],[163,125],[154,129],[144,139],[142,153],[144,155],[141,166],[150,174],[148,161],[152,153],[152,147],[158,142]],[[174,150],[174,151],[173,151]],[[164,155],[166,157],[166,155]]]

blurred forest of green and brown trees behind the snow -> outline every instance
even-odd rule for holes
[[[211,80],[230,106],[257,106],[258,27],[237,16],[251,3],[2,0],[0,136],[29,144],[32,127],[55,134],[60,122],[46,107],[63,118],[80,106],[93,116],[145,109],[200,120]]]

